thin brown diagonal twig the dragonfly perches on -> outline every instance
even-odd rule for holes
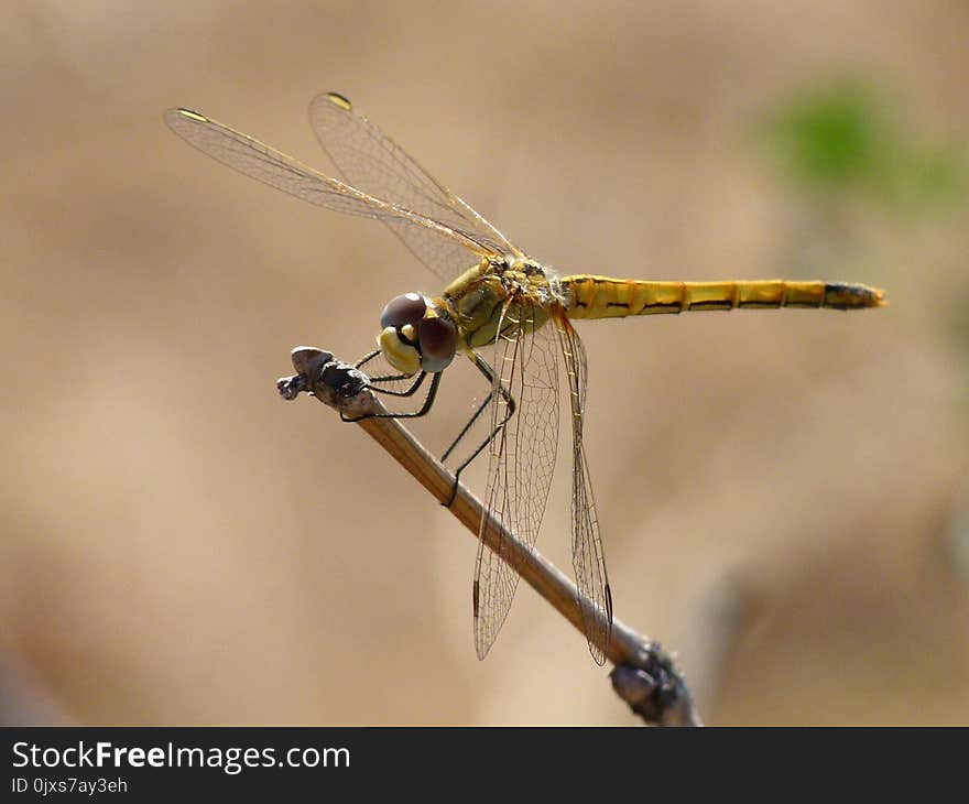
[[[292,352],[294,377],[277,381],[280,394],[287,400],[309,393],[358,424],[400,463],[442,504],[447,504],[455,478],[431,455],[396,419],[386,413],[368,390],[368,378],[348,363],[334,359],[331,352],[313,347],[297,347]],[[378,414],[378,415],[373,415]],[[481,501],[464,486],[458,486],[450,512],[477,539],[484,514]],[[580,633],[583,613],[576,585],[554,564],[531,550],[500,522],[488,514],[483,529],[486,545],[502,558],[565,617]],[[511,550],[509,550],[511,545]],[[607,658],[614,666],[611,675],[617,694],[646,722],[658,726],[701,725],[689,689],[673,659],[658,642],[644,639],[620,620],[613,619]]]

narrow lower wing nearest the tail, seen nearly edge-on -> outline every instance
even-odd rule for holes
[[[586,350],[564,312],[556,311],[553,320],[565,359],[571,406],[571,561],[576,584],[581,593],[579,608],[589,650],[592,659],[598,664],[603,664],[612,634],[612,593],[606,574],[596,500],[592,497],[586,450],[583,445],[583,419],[588,382]]]

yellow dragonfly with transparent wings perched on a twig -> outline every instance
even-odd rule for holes
[[[440,295],[411,292],[391,300],[380,317],[378,349],[358,366],[382,356],[396,373],[371,378],[371,387],[398,396],[415,396],[431,378],[420,409],[388,414],[392,416],[425,415],[443,372],[459,352],[488,382],[484,402],[444,454],[448,458],[473,423],[487,425],[481,443],[472,445],[455,472],[457,489],[460,471],[487,450],[484,514],[472,585],[479,659],[504,623],[519,580],[503,558],[501,543],[493,552],[484,550],[483,529],[491,517],[534,551],[558,448],[563,376],[571,425],[571,557],[578,605],[592,658],[601,665],[609,653],[612,591],[584,439],[588,368],[573,320],[885,304],[883,291],[846,282],[558,275],[434,178],[337,93],[313,99],[309,122],[339,177],[190,109],[170,109],[165,120],[189,144],[240,173],[326,209],[384,222],[447,283]],[[392,390],[391,381],[410,384]]]

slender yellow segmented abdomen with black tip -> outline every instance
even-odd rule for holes
[[[559,281],[568,297],[569,318],[769,307],[861,309],[888,304],[883,291],[843,282],[646,282],[591,274],[564,276]]]

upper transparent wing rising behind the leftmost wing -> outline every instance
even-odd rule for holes
[[[374,123],[355,112],[336,93],[319,95],[309,104],[309,124],[323,150],[348,184],[378,198],[386,198],[448,228],[473,232],[494,251],[524,257],[468,204],[421,167]],[[386,219],[384,222],[427,268],[451,280],[470,265],[454,243],[427,238],[420,229]]]

